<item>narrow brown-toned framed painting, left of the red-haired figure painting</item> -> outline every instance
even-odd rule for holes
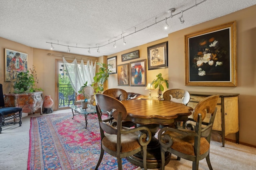
[[[117,66],[117,78],[118,86],[129,86],[130,85],[130,72],[129,63],[121,64]]]

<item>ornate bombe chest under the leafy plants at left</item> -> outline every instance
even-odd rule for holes
[[[35,113],[40,108],[42,115],[42,107],[44,102],[43,92],[34,92],[28,94],[4,94],[4,105],[6,107],[21,107],[24,113]]]

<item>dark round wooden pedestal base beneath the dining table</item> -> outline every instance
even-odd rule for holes
[[[148,148],[147,148],[147,158],[146,158],[147,168],[149,168],[149,169],[160,168],[161,167],[160,143],[159,143],[158,139],[156,139],[154,137],[156,132],[159,129],[159,125],[158,124],[149,124],[149,125],[137,124],[137,127],[139,127],[139,126],[148,127],[152,133],[152,138],[151,138],[151,141],[148,144]],[[132,164],[143,168],[143,153],[142,152],[138,152],[132,156],[129,156],[128,160]],[[168,164],[169,161],[170,161],[170,153],[166,152],[165,153],[165,165]]]

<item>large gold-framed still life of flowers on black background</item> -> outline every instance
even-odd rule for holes
[[[187,86],[237,86],[236,21],[185,35]]]

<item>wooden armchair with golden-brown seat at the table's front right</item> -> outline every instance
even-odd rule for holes
[[[164,170],[164,154],[166,151],[178,156],[177,160],[184,158],[193,161],[192,169],[198,170],[199,160],[206,158],[210,170],[210,139],[212,125],[217,111],[219,95],[209,96],[201,100],[192,113],[194,123],[186,123],[186,129],[162,128],[158,133],[158,140],[161,145],[161,168]],[[204,122],[206,116],[210,117],[209,122]],[[202,127],[202,124],[205,125]],[[188,128],[189,127],[189,128]]]

